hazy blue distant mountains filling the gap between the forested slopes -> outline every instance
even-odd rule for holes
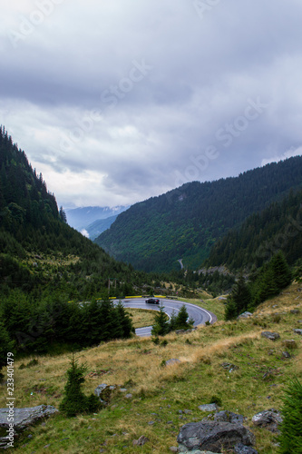
[[[120,212],[127,210],[127,206],[85,206],[82,208],[74,208],[72,210],[66,210],[67,222],[71,227],[76,229],[78,232],[85,230],[89,233],[89,237],[94,239],[104,230],[108,229],[112,222],[115,221],[116,217]],[[99,222],[108,220],[107,222]]]

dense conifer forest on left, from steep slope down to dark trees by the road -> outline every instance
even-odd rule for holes
[[[41,352],[129,337],[131,320],[108,300],[109,278],[114,296],[152,279],[66,223],[42,174],[1,127],[0,369],[9,348]]]

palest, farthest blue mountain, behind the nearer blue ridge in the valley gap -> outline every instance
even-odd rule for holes
[[[93,222],[117,216],[120,212],[127,210],[127,208],[126,206],[116,206],[113,208],[108,206],[85,206],[74,208],[73,210],[66,210],[67,222],[79,232],[83,229],[89,232],[87,227]]]

